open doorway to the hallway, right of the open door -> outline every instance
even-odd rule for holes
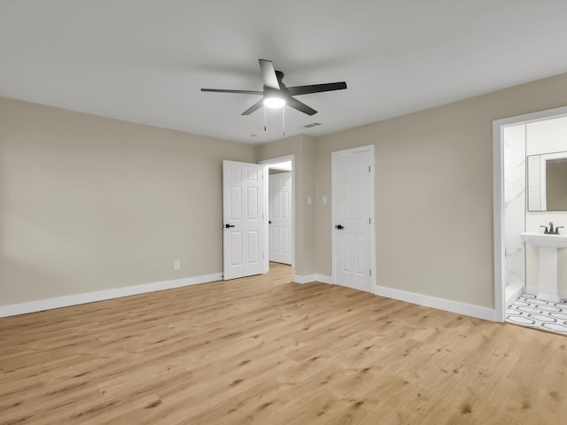
[[[270,268],[295,265],[295,173],[294,156],[261,161],[267,168],[264,183],[268,197],[267,246]]]

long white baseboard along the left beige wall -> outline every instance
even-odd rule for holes
[[[171,290],[182,286],[197,285],[198,283],[214,282],[222,280],[221,273],[206,274],[195,277],[185,277],[171,281],[145,283],[142,285],[124,286],[112,290],[98,290],[84,294],[68,295],[66,297],[38,299],[27,303],[0,305],[0,317],[15,316],[17,314],[35,313],[53,308],[68,307],[70,305],[81,305],[104,301],[105,299],[128,297],[130,295],[144,294],[156,290]]]

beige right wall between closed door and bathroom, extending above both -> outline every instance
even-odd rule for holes
[[[377,284],[493,308],[493,120],[565,104],[561,74],[320,137],[317,272],[331,271],[330,154],[374,143]]]

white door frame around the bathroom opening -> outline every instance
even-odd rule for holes
[[[567,106],[493,121],[494,315],[506,319],[506,253],[504,252],[504,128],[567,116]]]

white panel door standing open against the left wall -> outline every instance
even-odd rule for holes
[[[264,166],[222,161],[223,279],[268,271]]]

